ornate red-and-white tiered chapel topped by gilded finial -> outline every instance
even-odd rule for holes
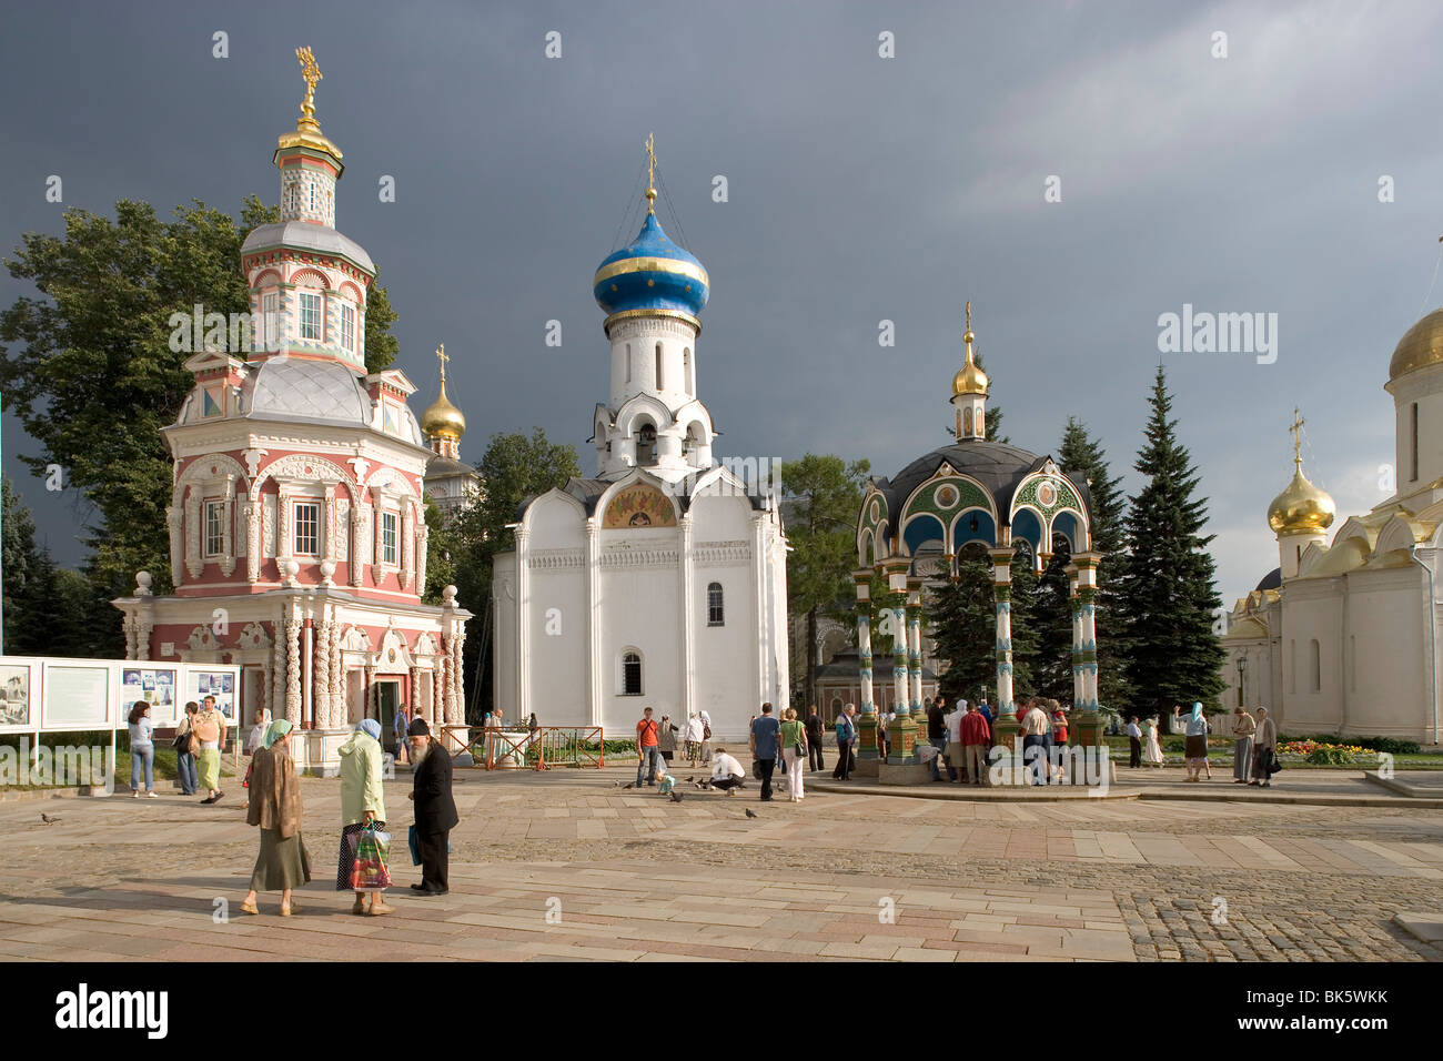
[[[335,230],[341,150],[316,120],[320,69],[309,48],[296,56],[306,97],[274,154],[281,221],[241,247],[253,351],[221,341],[188,359],[195,390],[165,429],[175,593],[153,596],[140,572],[134,596],[113,603],[127,658],[240,664],[241,720],[268,707],[294,722],[299,764],[329,772],[362,717],[388,723],[404,703],[433,725],[463,722],[470,612],[455,586],[442,606],[421,603],[437,453],[405,374],[365,370],[375,266]],[[459,439],[463,423],[433,429]]]

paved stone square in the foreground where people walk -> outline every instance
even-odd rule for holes
[[[619,788],[629,774],[459,772],[452,894],[411,898],[403,855],[385,918],[351,917],[330,883],[336,781],[302,781],[316,881],[286,921],[215,918],[238,907],[255,852],[234,782],[216,807],[0,803],[0,959],[1440,957],[1391,918],[1443,909],[1443,811],[1390,807],[1355,778],[1310,784],[1377,795],[1368,805],[864,791],[758,804],[685,781],[675,804]],[[387,785],[398,837],[407,790],[404,774]]]

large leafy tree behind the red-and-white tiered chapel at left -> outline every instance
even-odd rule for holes
[[[172,458],[160,429],[175,422],[195,378],[183,368],[189,354],[170,349],[170,315],[196,303],[248,312],[241,243],[278,219],[254,195],[238,219],[195,201],[165,221],[149,204],[121,199],[114,219],[66,211],[63,237],[29,232],[4,260],[40,297],[22,296],[0,313],[0,387],[7,411],[40,446],[22,459],[36,473],[59,465],[65,486],[92,507],[81,538],[92,550],[97,599],[128,593],[140,569],[154,576],[156,592],[172,589]],[[375,371],[395,357],[385,289],[371,289],[367,310]],[[102,615],[118,632],[114,609]]]

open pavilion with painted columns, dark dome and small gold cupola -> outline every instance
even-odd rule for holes
[[[997,608],[994,645],[999,716],[994,743],[1020,751],[1012,687],[1012,563],[1026,550],[1036,570],[1065,547],[1072,601],[1072,743],[1097,745],[1102,716],[1097,700],[1097,572],[1092,551],[1092,497],[1085,482],[1058,468],[1051,456],[987,439],[987,374],[973,354],[973,306],[962,335],[965,359],[952,377],[951,445],[918,458],[890,479],[867,482],[857,518],[857,645],[861,686],[857,772],[903,784],[918,762],[922,706],[922,593],[928,582],[957,577],[964,549],[986,550],[993,566]],[[886,762],[879,761],[877,700],[872,664],[872,579],[886,577],[882,614],[893,631],[890,697],[896,722]],[[883,670],[883,674],[886,671]],[[925,719],[922,720],[925,725]],[[925,730],[922,732],[925,738]],[[890,777],[889,777],[890,775]]]

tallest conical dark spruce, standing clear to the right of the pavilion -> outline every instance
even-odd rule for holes
[[[1157,367],[1146,442],[1134,468],[1143,473],[1127,517],[1127,559],[1118,582],[1126,624],[1131,707],[1147,713],[1201,700],[1216,709],[1224,650],[1214,632],[1222,605],[1215,585],[1206,498],[1195,497],[1199,476],[1169,419],[1172,397]]]

